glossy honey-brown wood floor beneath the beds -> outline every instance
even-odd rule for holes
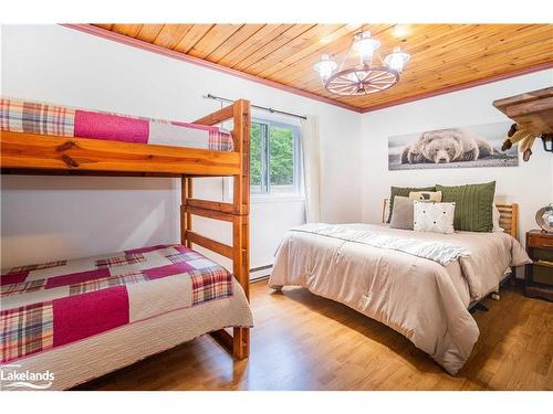
[[[553,304],[505,287],[473,314],[480,339],[457,374],[390,328],[302,288],[251,286],[251,355],[209,336],[80,390],[553,390]]]

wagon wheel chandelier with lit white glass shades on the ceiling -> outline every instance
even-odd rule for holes
[[[376,52],[380,42],[371,38],[371,32],[359,32],[354,35],[353,44],[340,66],[331,55],[323,54],[313,68],[321,75],[324,87],[333,94],[343,96],[374,94],[397,84],[399,74],[410,57],[396,46],[383,60]],[[349,57],[355,54],[358,55],[359,62],[344,68]],[[379,62],[373,65],[375,55]]]

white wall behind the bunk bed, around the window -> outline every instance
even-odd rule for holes
[[[316,115],[322,219],[361,220],[359,114],[59,25],[3,25],[1,57],[7,96],[194,120],[219,107],[201,97],[211,93]],[[200,193],[220,198],[221,180]],[[2,177],[1,195],[2,267],[178,241],[180,194],[173,179]],[[298,200],[252,203],[252,267],[270,263],[303,214]],[[212,236],[228,240],[229,232],[212,229]]]

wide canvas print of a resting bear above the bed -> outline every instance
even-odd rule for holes
[[[509,127],[495,123],[389,137],[388,169],[517,167],[517,149],[501,151]]]

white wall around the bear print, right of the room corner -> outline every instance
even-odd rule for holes
[[[387,138],[427,129],[509,120],[492,102],[553,85],[553,71],[495,82],[451,94],[364,114],[362,121],[363,220],[380,221],[382,199],[390,185],[424,187],[497,181],[497,200],[520,204],[520,236],[535,229],[535,211],[553,202],[553,157],[536,141],[519,167],[388,171]],[[507,134],[507,131],[505,131]]]

